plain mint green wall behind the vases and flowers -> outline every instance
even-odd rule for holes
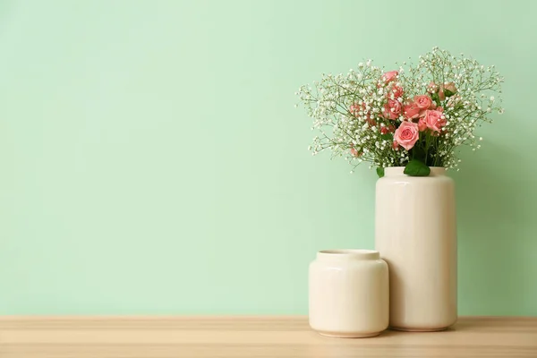
[[[528,1],[0,3],[0,314],[307,311],[372,248],[376,175],[312,158],[294,91],[432,46],[496,64],[506,114],[457,185],[460,314],[537,315]]]

